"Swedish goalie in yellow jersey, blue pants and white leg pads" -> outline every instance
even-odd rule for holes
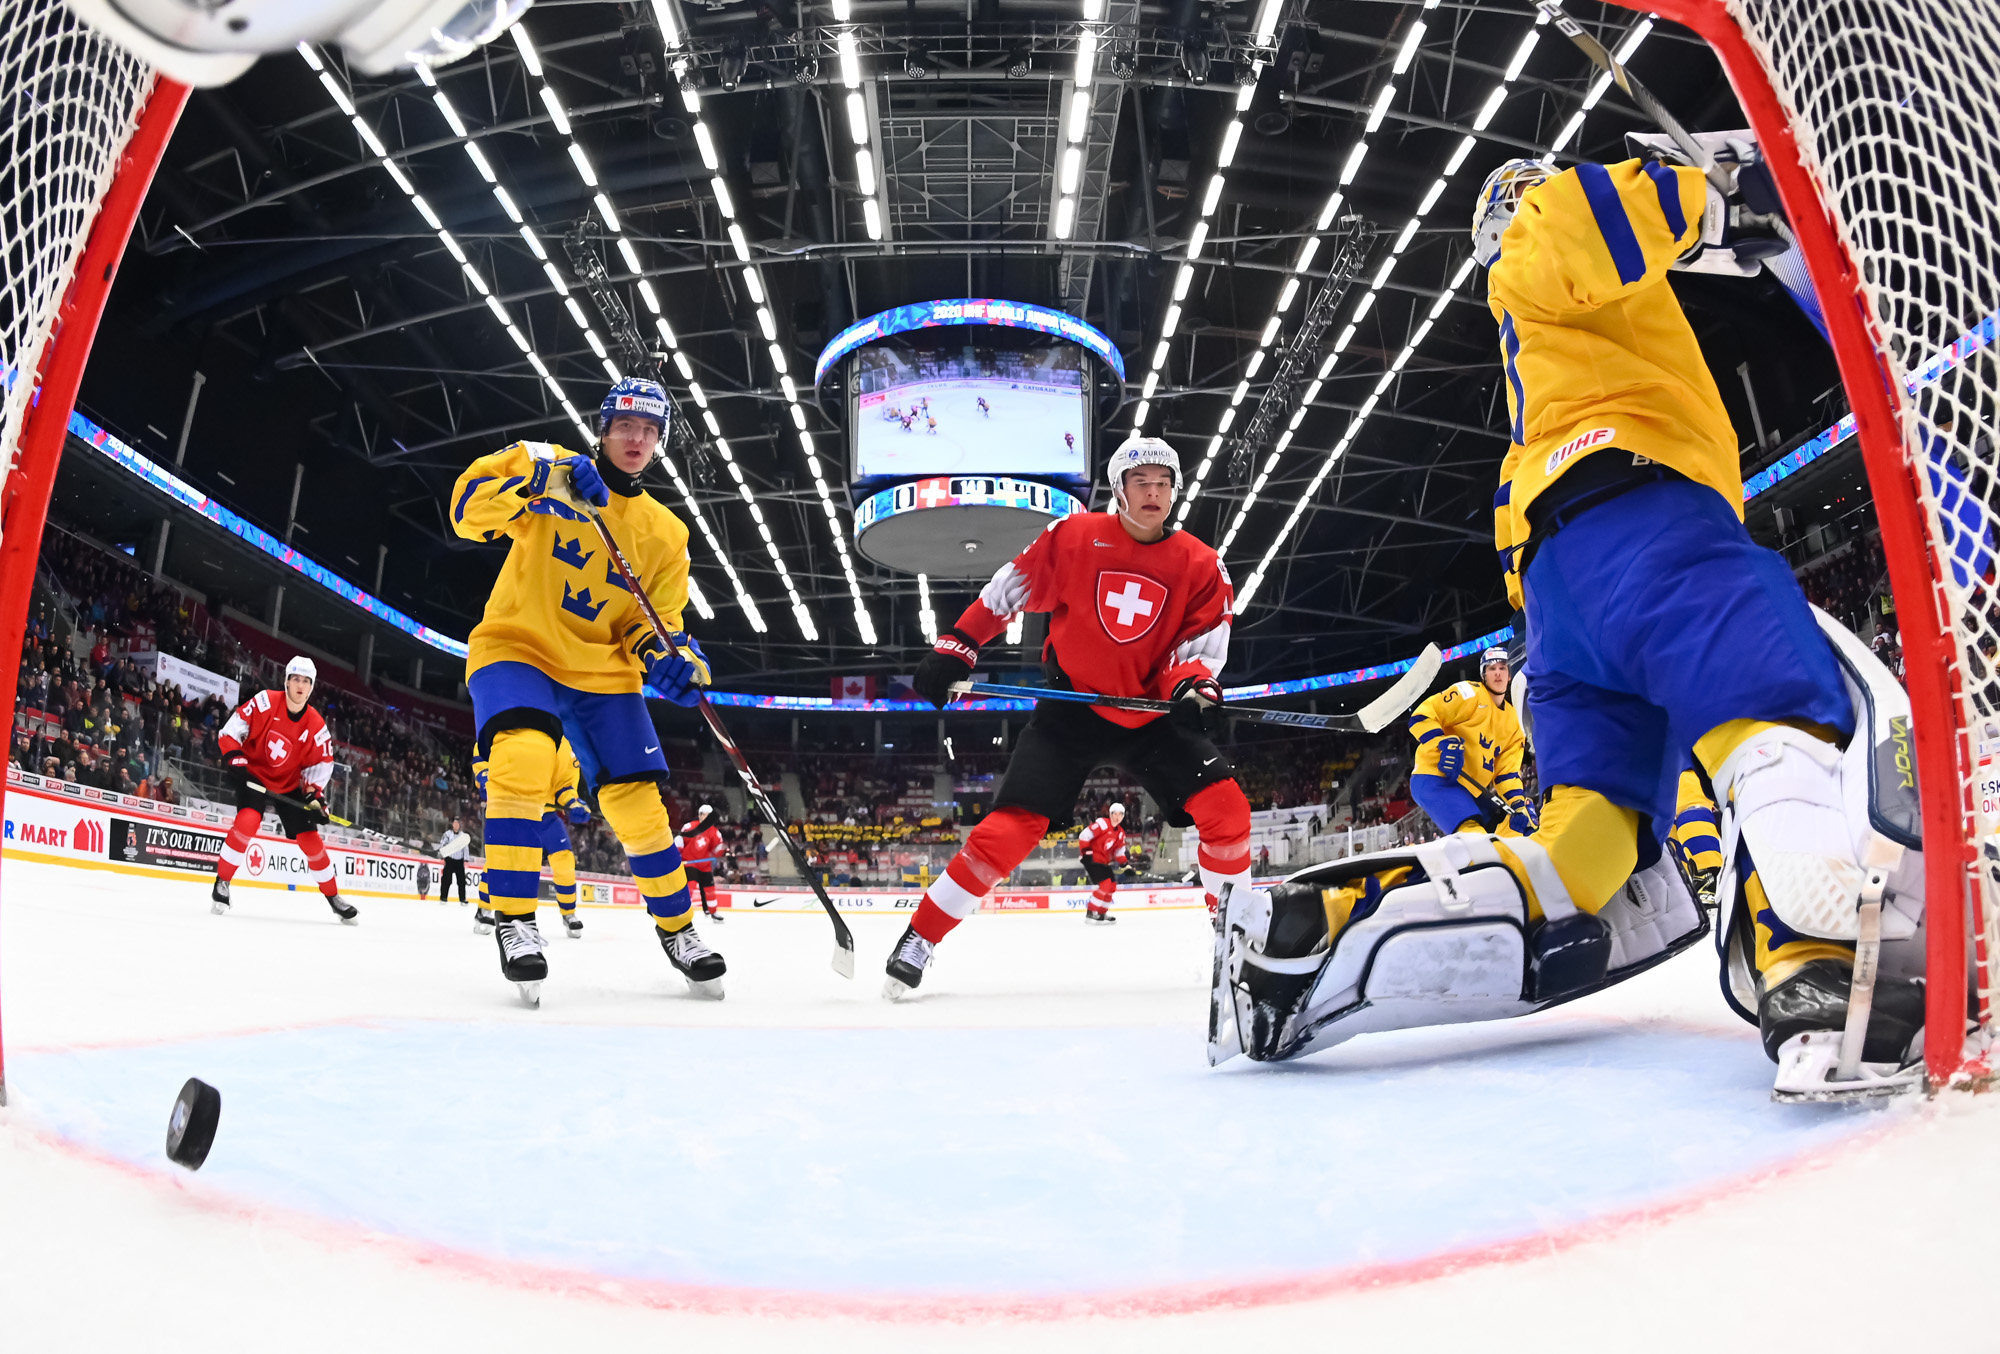
[[[1776,1094],[1920,1074],[1916,802],[1874,774],[1908,740],[1908,700],[1744,530],[1738,438],[1666,280],[1710,252],[1742,274],[1786,248],[1754,142],[1724,140],[1728,192],[1656,158],[1514,160],[1486,180],[1472,240],[1512,432],[1496,544],[1528,620],[1542,822],[1318,866],[1260,914],[1232,908],[1244,1052],[1540,1010],[1690,944],[1702,916],[1658,844],[1692,748],[1722,810],[1724,990],[1760,1026]],[[1874,908],[1860,1070],[1834,1076]]]

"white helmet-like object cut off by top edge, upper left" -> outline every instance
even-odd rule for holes
[[[530,0],[68,0],[100,34],[166,76],[228,84],[258,56],[338,42],[366,74],[446,66],[498,38]]]

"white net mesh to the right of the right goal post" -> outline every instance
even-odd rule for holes
[[[1984,842],[2000,830],[2000,6],[1730,0],[1728,12],[1792,114],[1878,328],[1952,618],[1974,762],[1966,830]],[[1928,608],[1904,618],[1916,624],[1932,624]],[[2000,908],[1980,910],[1984,1014]]]

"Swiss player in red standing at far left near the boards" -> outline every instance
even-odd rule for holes
[[[236,822],[222,842],[216,860],[214,912],[230,910],[230,880],[244,864],[244,850],[264,822],[264,810],[274,810],[284,834],[306,852],[312,882],[326,894],[328,906],[348,926],[360,916],[340,900],[334,884],[334,862],[320,842],[326,822],[326,780],[334,774],[334,738],[326,720],[314,710],[312,686],[320,670],[310,658],[294,658],[284,666],[282,692],[258,692],[246,700],[216,738],[216,750],[236,778]]]

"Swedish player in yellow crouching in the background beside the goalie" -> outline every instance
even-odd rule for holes
[[[1520,778],[1528,738],[1506,688],[1506,650],[1490,648],[1480,654],[1478,682],[1452,682],[1410,714],[1410,796],[1440,832],[1534,832],[1534,802]]]

